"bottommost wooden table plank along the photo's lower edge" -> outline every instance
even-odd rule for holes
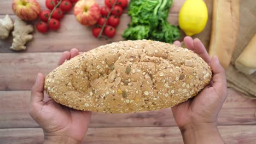
[[[256,141],[256,125],[219,126],[225,143],[253,144]],[[40,128],[0,129],[0,143],[42,143],[43,130]],[[82,143],[183,143],[177,127],[144,128],[89,128]]]

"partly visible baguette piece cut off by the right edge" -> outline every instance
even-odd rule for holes
[[[251,75],[256,71],[256,34],[246,46],[245,50],[235,61],[235,67],[246,75]]]

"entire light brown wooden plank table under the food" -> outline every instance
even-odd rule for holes
[[[38,2],[45,9],[44,0]],[[102,0],[97,2],[104,5]],[[169,21],[174,25],[178,24],[183,2],[174,2],[170,11]],[[0,19],[5,14],[16,18],[10,0],[0,0],[0,3]],[[41,143],[43,131],[27,112],[36,74],[48,74],[57,66],[61,52],[72,47],[88,51],[122,40],[121,34],[129,21],[125,10],[117,35],[113,39],[97,40],[92,37],[90,28],[79,25],[69,13],[61,21],[59,31],[48,34],[35,31],[26,51],[9,50],[12,38],[0,40],[0,143]],[[256,101],[243,96],[228,89],[228,98],[219,113],[219,131],[226,143],[256,142]],[[83,143],[182,143],[182,136],[171,109],[131,114],[93,113]]]

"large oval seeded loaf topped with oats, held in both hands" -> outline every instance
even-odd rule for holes
[[[97,47],[57,67],[45,91],[77,110],[130,113],[171,107],[194,97],[212,72],[196,53],[152,40]]]

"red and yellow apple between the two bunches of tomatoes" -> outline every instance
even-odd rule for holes
[[[100,18],[101,10],[94,0],[80,0],[75,4],[74,15],[82,25],[92,26]]]

